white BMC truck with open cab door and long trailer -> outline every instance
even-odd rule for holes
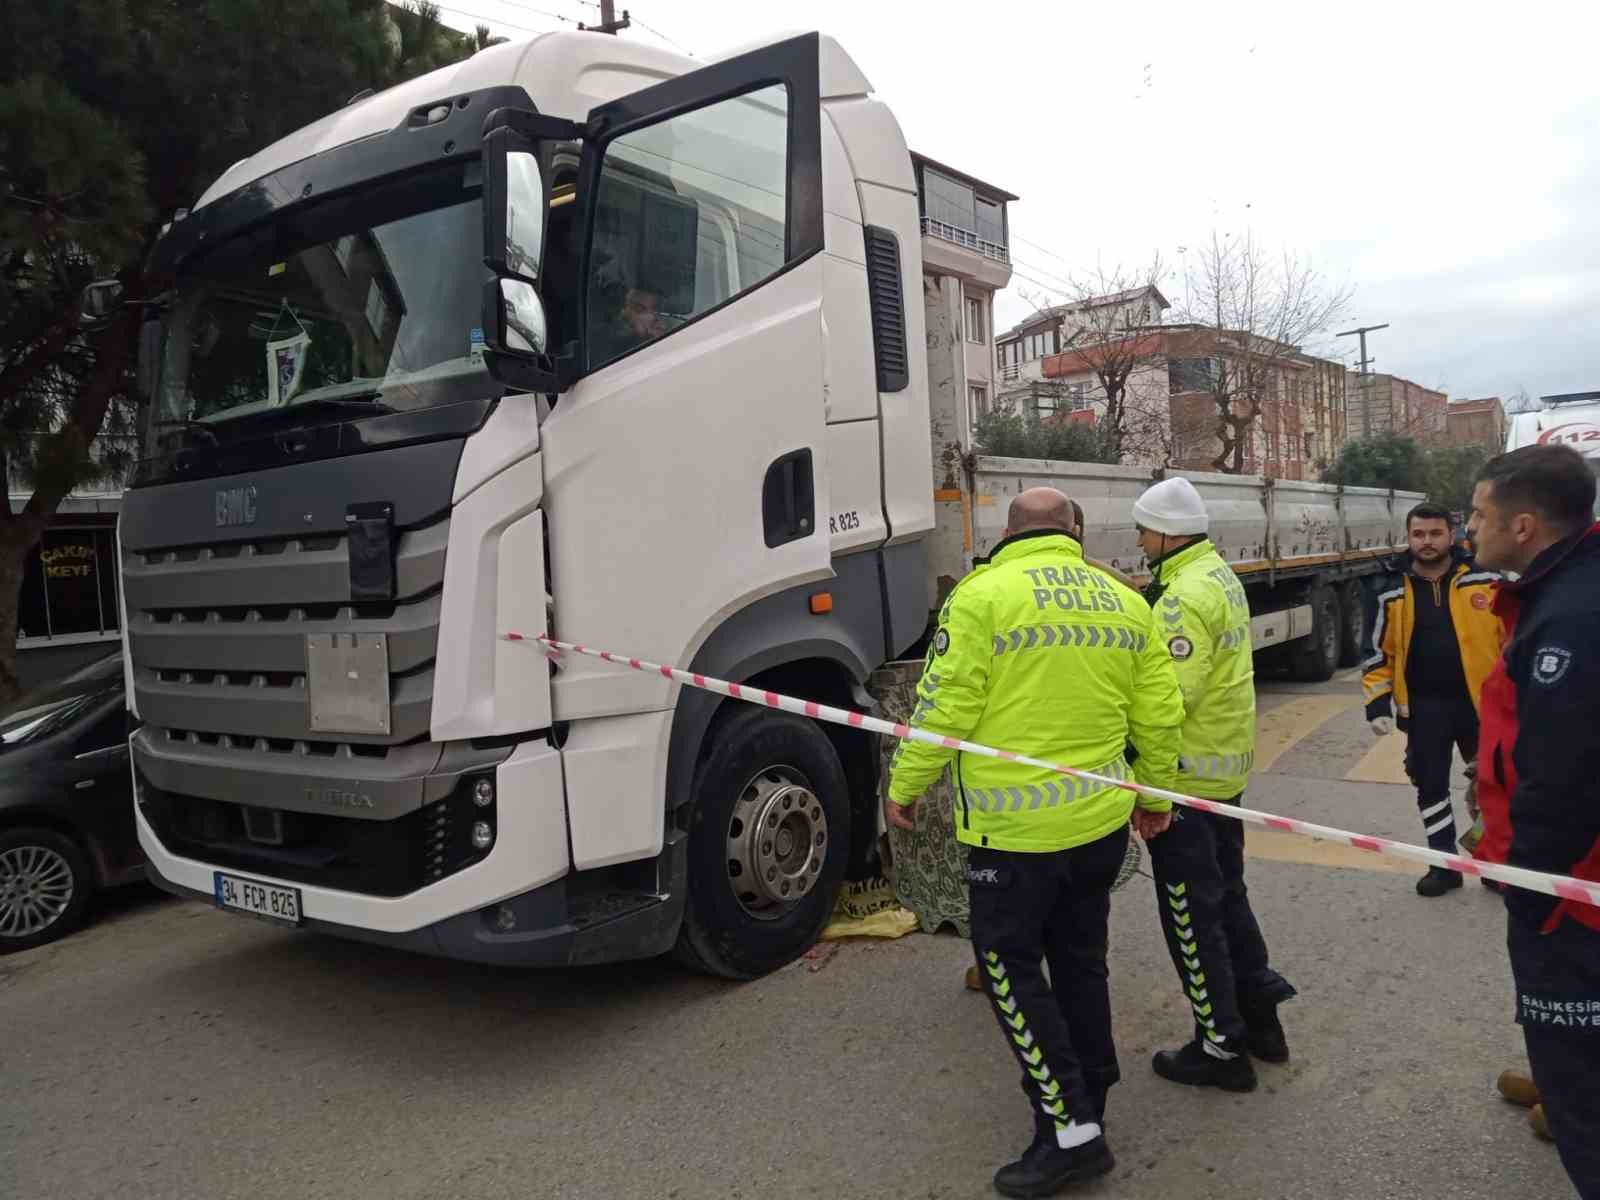
[[[494,963],[798,955],[870,862],[874,739],[502,635],[872,707],[1006,493],[1062,483],[1136,571],[1147,470],[949,466],[918,238],[894,117],[814,34],[499,45],[230,168],[142,298],[152,878]],[[1200,482],[1258,638],[1325,677],[1403,506]]]

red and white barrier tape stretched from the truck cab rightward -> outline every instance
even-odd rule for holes
[[[1414,862],[1424,862],[1430,867],[1446,867],[1450,870],[1459,870],[1462,875],[1482,875],[1483,878],[1509,883],[1515,888],[1542,891],[1547,896],[1560,896],[1562,899],[1574,901],[1578,904],[1592,904],[1600,907],[1600,883],[1589,883],[1568,875],[1547,875],[1542,870],[1507,867],[1498,862],[1478,862],[1477,859],[1462,858],[1461,854],[1445,854],[1437,850],[1429,850],[1427,846],[1390,842],[1386,837],[1366,837],[1365,834],[1352,834],[1346,829],[1318,826],[1310,821],[1298,821],[1290,816],[1274,816],[1272,813],[1259,813],[1253,808],[1238,808],[1237,805],[1224,805],[1218,800],[1202,800],[1195,795],[1168,792],[1165,787],[1147,787],[1144,784],[1133,782],[1131,779],[1112,779],[1104,774],[1094,774],[1093,771],[1080,771],[1077,766],[1062,766],[1061,763],[1045,762],[1043,758],[1030,758],[1026,754],[1016,754],[1013,750],[997,750],[992,746],[979,746],[978,742],[962,741],[960,738],[946,738],[944,734],[930,733],[928,730],[918,730],[910,725],[896,725],[894,722],[878,720],[877,717],[867,717],[866,714],[853,712],[850,709],[835,709],[827,704],[816,704],[814,701],[795,699],[794,696],[779,696],[776,691],[728,683],[726,680],[712,678],[710,675],[698,675],[690,670],[678,670],[677,667],[664,667],[659,662],[645,662],[637,658],[624,658],[621,654],[611,654],[605,650],[592,650],[590,646],[581,646],[571,642],[557,642],[555,638],[544,635],[525,637],[523,634],[504,634],[504,638],[507,642],[526,642],[530,645],[542,643],[555,651],[573,651],[576,654],[605,659],[606,662],[632,667],[634,670],[642,670],[650,675],[661,675],[677,683],[699,688],[701,691],[728,696],[730,699],[744,701],[747,704],[760,704],[768,709],[794,712],[800,717],[811,717],[813,720],[829,722],[832,725],[848,725],[853,730],[882,733],[888,738],[928,742],[930,746],[942,746],[949,750],[962,750],[963,754],[978,754],[986,758],[1005,758],[1008,762],[1026,763],[1027,766],[1038,766],[1042,770],[1069,774],[1077,779],[1091,779],[1094,782],[1110,784],[1112,787],[1122,787],[1130,792],[1138,792],[1139,795],[1171,800],[1174,805],[1198,808],[1202,813],[1230,816],[1251,826],[1278,829],[1285,834],[1304,834],[1306,837],[1322,838],[1323,842],[1342,842],[1347,846],[1355,846],[1357,850],[1365,850],[1373,854],[1406,858]]]

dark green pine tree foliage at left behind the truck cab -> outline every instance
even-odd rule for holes
[[[115,445],[131,451],[91,443],[134,427],[138,312],[88,328],[83,285],[155,294],[160,222],[230,165],[486,40],[445,29],[432,3],[0,5],[0,477],[34,488],[22,512],[0,506],[0,576],[72,486],[117,466]],[[0,698],[13,621],[0,597]]]

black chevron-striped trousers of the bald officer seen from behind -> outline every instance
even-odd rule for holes
[[[968,859],[978,974],[1042,1131],[1102,1120],[1106,1093],[1120,1078],[1106,925],[1126,848],[1123,827],[1072,850],[973,846]]]

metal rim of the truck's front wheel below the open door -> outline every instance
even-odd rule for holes
[[[827,814],[806,778],[773,766],[739,792],[728,818],[728,886],[739,906],[776,920],[822,877]]]

